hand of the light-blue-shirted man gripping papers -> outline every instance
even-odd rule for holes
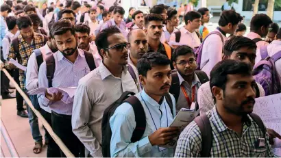
[[[180,129],[178,127],[160,128],[149,135],[148,139],[152,146],[161,146],[171,142],[179,133]]]

